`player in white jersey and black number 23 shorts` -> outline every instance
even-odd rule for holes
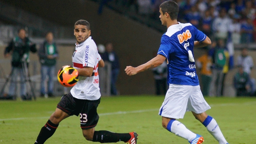
[[[104,67],[104,61],[98,54],[97,46],[90,37],[88,21],[79,20],[74,24],[76,49],[72,56],[73,67],[77,69],[79,81],[70,93],[63,95],[55,112],[42,127],[35,144],[44,144],[58,128],[59,123],[72,115],[80,116],[80,125],[86,140],[100,143],[126,142],[137,144],[137,133],[115,133],[107,130],[95,131],[100,104],[98,66]]]

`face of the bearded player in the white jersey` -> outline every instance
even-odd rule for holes
[[[88,30],[84,25],[74,26],[74,36],[77,39],[77,44],[84,42],[91,35],[91,30]]]

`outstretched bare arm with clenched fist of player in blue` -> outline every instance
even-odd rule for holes
[[[146,70],[150,70],[154,67],[161,65],[165,61],[165,59],[166,58],[164,56],[158,54],[156,57],[149,60],[147,63],[140,65],[138,67],[127,66],[125,72],[127,75],[132,76],[139,72],[144,72]]]

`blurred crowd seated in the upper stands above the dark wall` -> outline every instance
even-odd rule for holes
[[[159,6],[166,0],[94,0],[123,14],[137,14],[159,21]],[[180,7],[178,21],[191,23],[208,37],[235,44],[256,41],[256,0],[174,0]],[[231,39],[232,38],[232,39]]]

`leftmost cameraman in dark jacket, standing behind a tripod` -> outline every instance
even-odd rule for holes
[[[26,75],[24,73],[23,67],[24,63],[28,65],[29,62],[29,52],[35,53],[37,51],[35,44],[33,44],[28,37],[26,37],[26,30],[21,28],[18,30],[18,36],[14,37],[9,45],[5,49],[5,58],[12,55],[12,72],[11,72],[11,83],[9,87],[9,92],[6,99],[16,99],[16,84],[17,75],[20,76],[20,95],[22,100],[31,100],[31,95],[27,95],[26,92]],[[26,67],[27,68],[27,67]]]

